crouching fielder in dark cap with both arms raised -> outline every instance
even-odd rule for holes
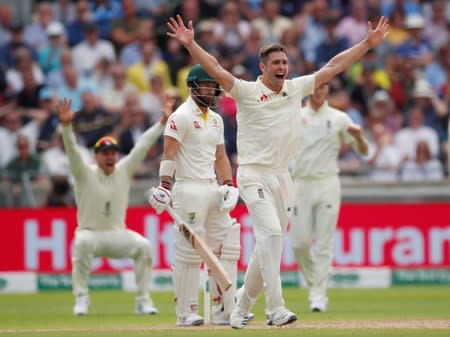
[[[70,168],[75,180],[77,229],[72,255],[74,315],[86,315],[89,308],[88,278],[94,257],[132,258],[135,263],[136,313],[156,314],[149,295],[152,268],[150,242],[125,225],[130,182],[149,148],[164,130],[172,112],[174,99],[165,98],[163,116],[148,129],[130,154],[118,161],[117,141],[109,136],[94,146],[96,165],[83,162],[72,130],[75,112],[71,100],[64,98],[58,106],[59,120]]]

